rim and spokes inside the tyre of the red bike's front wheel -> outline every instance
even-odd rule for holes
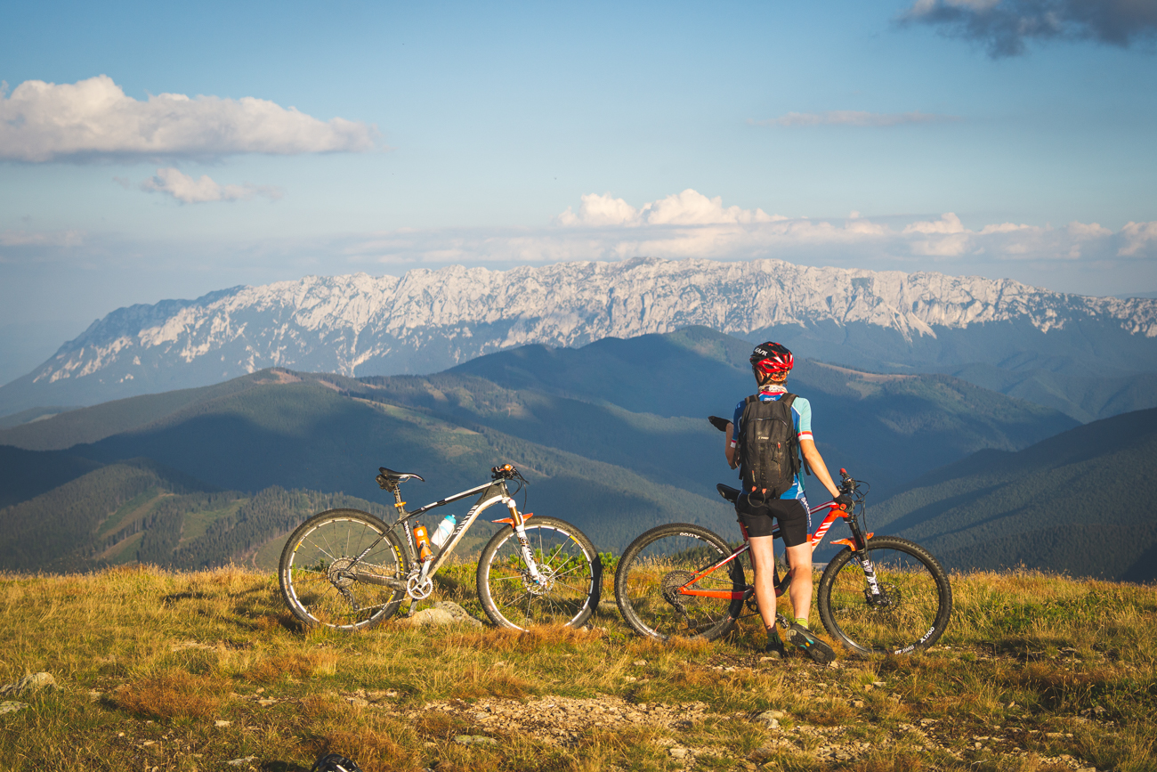
[[[853,557],[832,582],[828,601],[838,637],[861,652],[905,654],[936,633],[941,588],[916,556],[893,547],[869,549],[883,590],[874,595]]]

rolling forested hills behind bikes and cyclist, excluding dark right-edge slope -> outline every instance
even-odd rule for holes
[[[522,346],[429,376],[274,368],[62,412],[0,431],[0,463],[16,472],[0,488],[0,568],[196,567],[224,554],[268,567],[310,502],[382,502],[378,465],[426,477],[406,485],[420,502],[514,462],[531,481],[531,510],[573,521],[603,550],[661,522],[727,532],[734,514],[714,486],[735,472],[703,419],[729,416],[751,391],[749,353],[742,339],[688,328]],[[1012,453],[1077,426],[939,374],[801,360],[789,383],[812,404],[828,464],[871,480],[875,501],[975,451]],[[66,528],[62,513],[80,513],[68,502],[86,497],[86,514],[66,517],[78,539],[45,550],[44,523]]]

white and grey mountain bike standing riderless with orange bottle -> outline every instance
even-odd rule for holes
[[[482,549],[477,574],[478,597],[491,622],[515,630],[536,624],[580,627],[598,606],[603,564],[595,546],[569,523],[518,512],[507,485],[516,481],[517,494],[526,480],[513,465],[495,466],[489,483],[413,512],[406,512],[399,485],[425,479],[385,466],[376,479],[393,493],[398,513],[393,523],[358,509],[329,509],[302,523],[281,551],[281,594],[307,625],[363,630],[389,619],[406,596],[412,604],[429,597],[434,575],[455,546],[484,510],[499,503],[509,515],[492,522],[508,528]],[[474,494],[478,501],[463,521],[456,528],[444,527],[441,546],[430,542],[420,523],[408,525],[432,509]],[[398,528],[403,523],[407,527]]]

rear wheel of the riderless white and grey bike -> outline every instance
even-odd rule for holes
[[[408,567],[405,544],[381,520],[358,509],[329,509],[286,542],[281,595],[307,625],[364,630],[398,610],[406,593],[386,581],[405,581]]]

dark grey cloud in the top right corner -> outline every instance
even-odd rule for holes
[[[1031,39],[1128,47],[1157,37],[1152,0],[916,0],[901,23],[937,27],[985,45],[993,58],[1023,54]]]

